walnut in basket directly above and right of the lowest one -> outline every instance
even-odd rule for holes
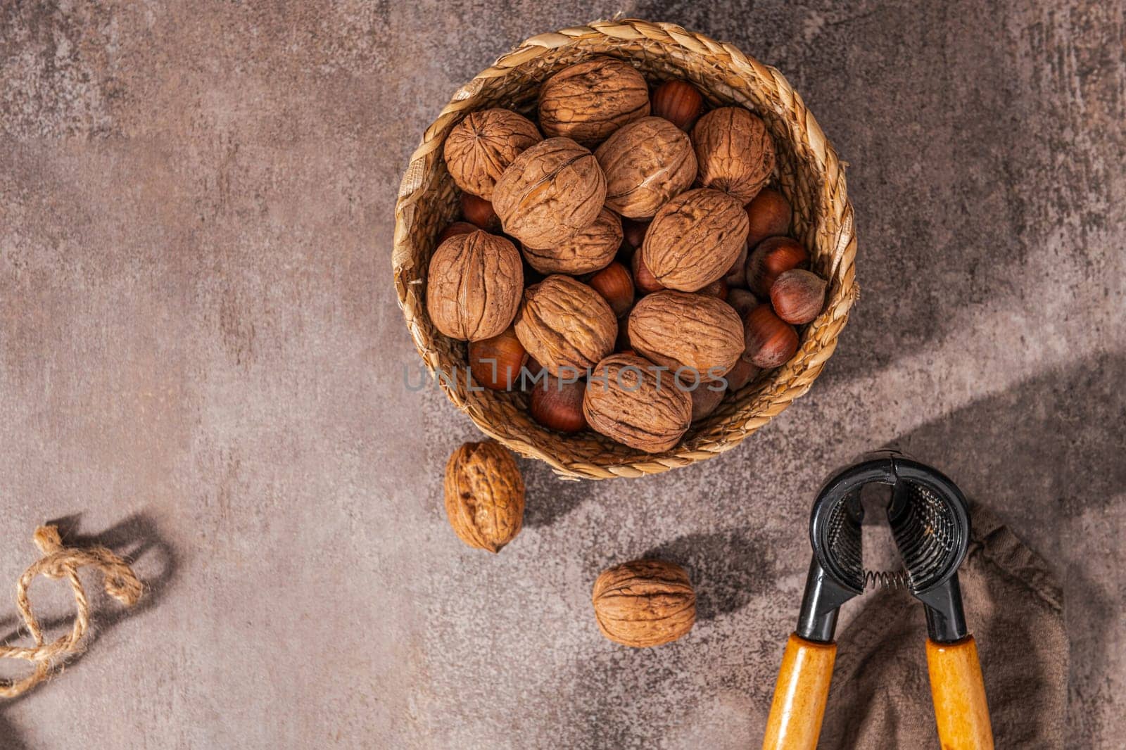
[[[703,294],[654,292],[629,313],[634,350],[686,384],[718,380],[743,354],[743,321],[726,302]]]

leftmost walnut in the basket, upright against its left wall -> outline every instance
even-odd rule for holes
[[[427,312],[446,336],[480,341],[508,328],[522,288],[524,265],[516,245],[481,230],[455,234],[430,258]]]

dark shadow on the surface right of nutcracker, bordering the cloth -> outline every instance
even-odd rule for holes
[[[1112,503],[1126,492],[1126,355],[1102,352],[1030,377],[891,441],[947,473],[1062,581],[1070,651],[1069,731],[1100,734],[1120,618]],[[1105,554],[1105,553],[1103,553]],[[1120,555],[1119,555],[1120,556]],[[1102,571],[1102,572],[1100,572]],[[1116,587],[1117,590],[1116,590]],[[980,627],[988,630],[989,624]]]

